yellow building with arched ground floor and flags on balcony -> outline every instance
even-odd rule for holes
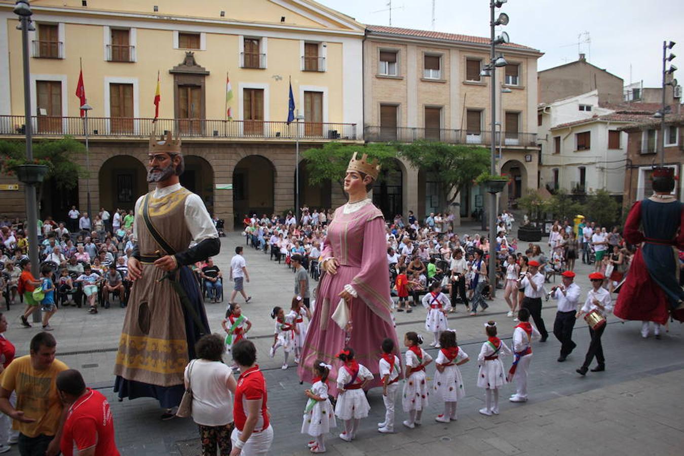
[[[21,32],[14,1],[0,0],[0,138],[25,124]],[[294,207],[295,142],[362,142],[363,25],[308,0],[35,0],[30,32],[32,126],[38,138],[83,140],[80,62],[89,113],[89,180],[72,195],[51,190],[41,215],[130,209],[147,189],[146,147],[157,72],[157,130],[179,131],[183,184],[226,219]],[[226,103],[226,77],[233,98]],[[300,124],[287,124],[289,81]],[[228,110],[231,109],[231,119]],[[86,157],[78,157],[86,166]],[[302,183],[306,179],[304,165]],[[3,178],[0,183],[15,183]],[[330,207],[337,186],[302,185],[302,202]],[[0,190],[0,213],[24,212],[23,186]]]

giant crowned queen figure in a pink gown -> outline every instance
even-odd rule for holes
[[[330,378],[337,378],[341,362],[336,356],[347,346],[373,373],[375,378],[367,385],[373,388],[381,380],[382,340],[392,338],[399,353],[390,313],[385,221],[368,198],[379,172],[378,161],[369,161],[365,154],[357,159],[354,153],[347,166],[344,191],[349,201],[335,211],[324,240],[324,274],[298,367],[302,381],[311,382],[311,367],[317,359],[332,365]],[[331,394],[337,395],[334,390]]]

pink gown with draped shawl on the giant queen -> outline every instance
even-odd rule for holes
[[[365,204],[346,214],[344,208],[341,206],[335,211],[321,254],[323,260],[337,258],[339,267],[333,276],[324,274],[321,277],[297,372],[302,381],[311,383],[311,367],[320,359],[332,365],[329,377],[337,378],[342,362],[335,357],[345,347],[345,338],[348,336],[347,345],[354,349],[356,361],[375,368],[372,371],[374,378],[367,385],[367,388],[374,388],[380,386],[382,380],[378,367],[382,340],[392,338],[395,347],[399,347],[389,310],[391,300],[385,223],[382,213],[373,204]],[[350,305],[352,330],[348,334],[330,318],[337,309],[339,293],[346,284],[350,284],[358,293]],[[337,395],[337,391],[333,390],[330,394]]]

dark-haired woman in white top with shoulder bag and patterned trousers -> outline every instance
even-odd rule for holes
[[[233,432],[233,393],[235,377],[230,367],[222,362],[226,349],[218,334],[202,336],[195,344],[198,359],[185,367],[185,394],[177,416],[191,416],[197,423],[202,442],[202,456],[231,454]]]

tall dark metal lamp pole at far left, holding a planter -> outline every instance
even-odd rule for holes
[[[29,18],[21,16],[21,44],[23,46],[24,66],[24,131],[26,133],[26,159],[29,163],[34,159],[33,149],[33,125],[31,124],[31,72],[29,70]],[[31,273],[38,277],[40,273],[40,258],[38,256],[38,202],[36,201],[36,185],[25,185],[26,217],[29,226],[26,228],[29,234],[29,260],[31,260]],[[40,321],[40,308],[36,306],[33,313],[34,323]]]

